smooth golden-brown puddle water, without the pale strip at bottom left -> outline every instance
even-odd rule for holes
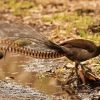
[[[41,63],[38,63],[39,61],[33,60],[31,57],[25,57],[16,54],[7,54],[5,59],[0,60],[0,79],[4,80],[6,77],[10,77],[18,84],[30,86],[31,88],[35,88],[49,95],[52,95],[57,92],[61,92],[61,89],[57,87],[57,84],[53,84],[53,85],[50,84],[51,82],[56,83],[56,79],[48,78],[48,77],[39,79],[37,78],[37,71],[31,71],[32,69],[28,71],[25,70],[26,66],[27,68],[29,67],[30,62],[31,63],[34,62],[33,64],[31,64],[33,66],[33,67],[31,66],[31,68],[34,67],[36,68],[39,64],[40,65],[42,64],[42,68],[43,68],[44,63],[42,60]],[[48,65],[47,62],[48,61],[45,62],[46,64],[44,65],[45,67]],[[51,63],[53,62],[49,62],[47,69],[49,68]]]

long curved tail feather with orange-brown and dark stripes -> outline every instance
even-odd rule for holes
[[[37,58],[37,59],[54,59],[54,58],[60,58],[63,57],[64,54],[63,53],[59,53],[59,52],[41,52],[38,50],[33,50],[30,48],[25,48],[25,47],[7,47],[7,46],[0,46],[0,51],[8,51],[11,53],[17,53],[17,54],[22,54],[25,56],[31,56],[33,58]]]

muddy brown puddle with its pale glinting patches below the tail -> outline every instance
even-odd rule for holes
[[[59,65],[58,65],[58,62]],[[1,97],[17,100],[52,100],[53,94],[63,93],[52,77],[38,78],[37,73],[62,66],[63,60],[37,60],[16,54],[7,54],[0,60]],[[54,83],[51,85],[51,83]],[[8,99],[7,99],[8,100]],[[12,99],[13,100],[13,99]]]

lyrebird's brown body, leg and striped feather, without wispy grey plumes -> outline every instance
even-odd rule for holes
[[[1,40],[1,44],[7,44],[10,45],[13,41],[12,40]],[[39,58],[39,59],[54,59],[59,58],[62,56],[66,56],[70,60],[75,62],[75,68],[76,68],[76,74],[78,76],[78,66],[80,62],[89,60],[91,58],[94,58],[100,54],[100,46],[96,46],[92,41],[84,40],[84,39],[73,39],[69,41],[65,41],[63,43],[55,44],[48,40],[47,43],[44,42],[44,44],[54,51],[50,52],[41,52],[38,50],[29,49],[25,47],[18,47],[16,43],[13,43],[10,47],[0,47],[0,50],[2,51],[9,51],[13,53],[18,54],[24,54],[26,56],[31,56],[33,58]],[[83,83],[85,83],[85,79],[83,79]]]

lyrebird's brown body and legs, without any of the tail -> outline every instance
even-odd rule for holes
[[[71,61],[75,62],[75,71],[78,76],[78,66],[81,65],[82,69],[83,66],[81,62],[87,61],[94,57],[100,55],[100,46],[97,46],[94,42],[86,39],[72,39],[69,41],[65,41],[59,44],[66,53],[66,48],[72,52],[71,55],[66,54],[65,56],[70,59]],[[83,79],[83,83],[85,83],[85,77]]]

